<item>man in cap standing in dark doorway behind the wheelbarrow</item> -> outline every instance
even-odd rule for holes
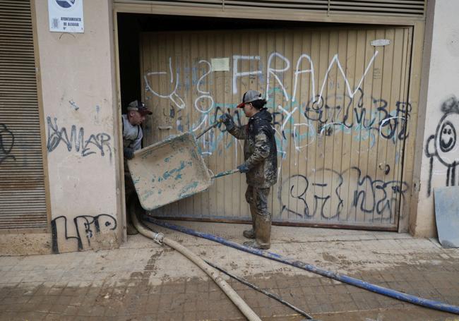
[[[121,115],[123,121],[123,155],[124,155],[124,191],[126,195],[126,207],[129,209],[130,202],[134,202],[136,188],[134,187],[131,173],[127,165],[127,160],[134,157],[134,152],[142,147],[143,132],[141,124],[145,121],[145,116],[153,114],[140,100],[130,102],[127,107],[127,114]],[[127,234],[138,234],[138,231],[131,222],[130,215],[127,214]]]

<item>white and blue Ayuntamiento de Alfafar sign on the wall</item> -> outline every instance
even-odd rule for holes
[[[84,32],[83,0],[48,0],[49,31]]]

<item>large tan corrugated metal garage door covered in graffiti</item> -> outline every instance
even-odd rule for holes
[[[143,34],[141,48],[143,99],[153,111],[146,145],[199,133],[226,111],[246,123],[234,109],[242,94],[267,91],[280,167],[273,220],[397,229],[409,193],[405,138],[415,131],[407,132],[410,28],[158,32]],[[210,71],[215,58],[227,59],[225,71]],[[214,173],[244,161],[242,142],[222,129],[199,140]],[[245,190],[244,175],[217,178],[208,191],[153,214],[248,219]]]

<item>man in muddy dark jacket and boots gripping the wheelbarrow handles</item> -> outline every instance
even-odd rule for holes
[[[274,138],[273,117],[264,107],[266,100],[256,90],[249,90],[237,108],[243,108],[249,123],[236,126],[229,114],[220,116],[228,133],[244,140],[245,162],[237,168],[246,173],[246,200],[250,205],[252,229],[244,231],[245,246],[266,250],[270,248],[271,214],[268,212],[270,187],[278,180],[277,147]]]

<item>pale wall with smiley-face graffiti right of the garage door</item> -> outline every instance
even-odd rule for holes
[[[410,220],[415,236],[436,235],[434,189],[459,185],[459,1],[430,0],[428,11],[422,84],[427,109],[418,125],[420,188]]]

